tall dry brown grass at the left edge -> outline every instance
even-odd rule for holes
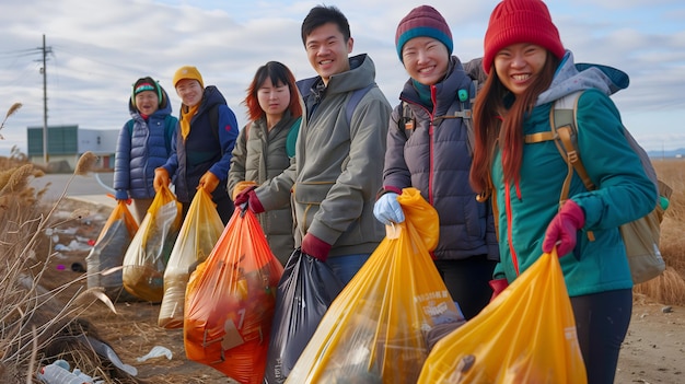
[[[88,172],[93,156],[82,156],[77,166],[80,174]],[[39,366],[65,359],[106,383],[137,383],[126,380],[128,375],[112,363],[107,365],[85,338],[98,339],[94,327],[79,315],[106,296],[88,290],[62,301],[63,292],[73,283],[81,284],[80,280],[50,290],[42,286],[46,266],[55,256],[50,245],[45,244],[45,230],[80,220],[88,213],[81,210],[67,220],[56,221],[53,213],[62,194],[46,214],[45,208],[36,203],[44,190],[30,187],[30,178],[43,173],[21,159],[0,161],[0,382],[39,383],[35,375]]]

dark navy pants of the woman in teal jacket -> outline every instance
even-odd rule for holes
[[[588,384],[612,384],[632,314],[632,290],[571,298]]]

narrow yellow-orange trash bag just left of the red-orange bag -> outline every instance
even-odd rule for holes
[[[190,201],[164,270],[164,296],[158,318],[160,327],[183,327],[188,278],[197,265],[207,259],[222,232],[223,222],[211,195],[200,188]]]

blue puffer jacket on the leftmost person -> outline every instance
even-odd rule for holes
[[[172,107],[166,91],[162,108],[146,121],[130,100],[132,130],[126,121],[119,131],[114,161],[114,189],[117,199],[154,198],[154,168],[164,165],[170,156],[171,140],[176,130],[177,119],[171,116]]]

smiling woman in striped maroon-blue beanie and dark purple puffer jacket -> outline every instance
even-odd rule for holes
[[[420,5],[402,19],[395,46],[409,79],[390,119],[383,191],[373,213],[384,224],[402,222],[397,196],[407,187],[421,191],[439,213],[436,267],[468,319],[488,304],[488,281],[499,260],[491,206],[476,201],[468,185],[468,128],[454,118],[471,108],[476,90],[452,56],[452,32],[434,8]],[[403,120],[409,113],[411,121]]]

